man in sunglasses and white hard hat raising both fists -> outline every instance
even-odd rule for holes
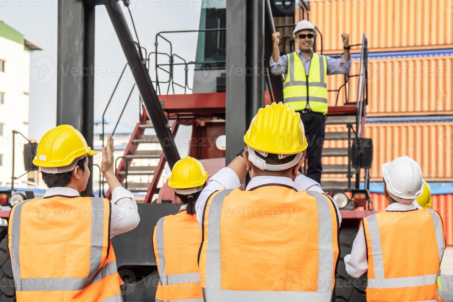
[[[293,36],[299,49],[280,56],[280,33],[272,34],[274,49],[270,58],[270,70],[274,75],[286,76],[283,88],[284,103],[300,113],[308,140],[307,176],[321,182],[324,115],[328,110],[327,75],[349,73],[349,35],[342,34],[344,54],[338,60],[313,53],[316,31],[309,21],[300,21],[294,28]]]

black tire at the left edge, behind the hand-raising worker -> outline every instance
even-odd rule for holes
[[[0,228],[0,302],[15,302],[13,269],[8,250],[8,231]]]

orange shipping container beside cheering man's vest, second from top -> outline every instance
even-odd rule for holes
[[[453,114],[453,52],[441,54],[370,58],[367,115]],[[359,73],[359,62],[352,61],[351,75]],[[351,77],[349,101],[357,101],[357,81],[358,77]],[[344,75],[329,76],[328,90],[343,83]],[[344,104],[345,88],[339,94],[329,92],[328,100],[330,106]]]

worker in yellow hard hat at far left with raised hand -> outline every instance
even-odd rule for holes
[[[49,130],[33,163],[48,186],[43,198],[19,201],[10,212],[8,247],[18,302],[122,301],[111,238],[134,229],[134,195],[113,171],[113,139],[102,149],[101,172],[112,200],[80,197],[87,187],[88,147],[70,125]]]

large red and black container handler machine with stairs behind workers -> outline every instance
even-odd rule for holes
[[[127,189],[146,192],[146,197],[144,203],[138,204],[141,217],[138,227],[115,236],[112,244],[118,271],[125,282],[122,286],[124,301],[154,301],[159,275],[152,248],[152,231],[159,218],[178,211],[171,189],[167,185],[158,188],[158,182],[165,163],[172,168],[179,159],[173,139],[178,126],[192,126],[189,155],[200,159],[210,175],[230,163],[236,151],[243,147],[242,140],[237,138],[245,134],[257,110],[271,102],[283,101],[283,77],[270,74],[268,67],[272,53],[271,34],[275,30],[281,32],[282,53],[294,51],[292,28],[299,20],[309,19],[310,6],[309,1],[296,0],[203,0],[199,29],[160,32],[155,37],[154,51],[148,52],[140,45],[138,36],[134,40],[126,23],[123,11],[129,12],[132,18],[129,0],[59,0],[58,66],[81,70],[94,66],[96,5],[105,6],[127,60],[123,73],[127,67],[130,68],[134,86],[140,91],[140,120],[124,156],[118,158],[116,176]],[[320,53],[323,53],[321,29],[316,30],[316,39],[321,40],[318,43],[321,45]],[[171,35],[175,33],[198,33],[195,61],[184,59],[173,49]],[[324,148],[322,154],[323,157],[344,157],[346,162],[343,165],[324,165],[324,174],[332,174],[341,181],[323,181],[321,184],[337,202],[342,216],[341,256],[333,301],[366,301],[366,274],[358,279],[351,278],[343,262],[344,255],[351,252],[360,219],[374,212],[368,191],[372,142],[363,137],[368,104],[365,34],[361,41],[352,45],[360,51],[360,71],[356,75],[345,75],[344,84],[334,90],[337,102],[335,106],[329,106],[326,120],[326,125],[344,126],[342,132],[326,132],[326,142],[342,141],[344,148]],[[159,50],[161,43],[167,43],[169,53]],[[194,66],[192,87],[188,83],[190,65]],[[234,68],[242,72],[236,72]],[[73,125],[92,146],[94,77],[89,72],[83,77],[63,76],[63,69],[57,69],[57,124]],[[183,73],[183,83],[175,81],[178,71]],[[350,87],[349,79],[352,77],[358,77],[357,87]],[[349,99],[351,88],[357,89],[357,100]],[[344,93],[346,102],[338,105],[340,93]],[[125,106],[128,101],[129,98]],[[147,135],[145,131],[153,135]],[[212,142],[222,135],[226,135],[226,149],[213,148]],[[140,144],[149,143],[159,143],[162,148],[139,148]],[[137,159],[155,159],[157,164],[133,164]],[[90,165],[92,167],[92,163]],[[152,180],[131,183],[127,181],[128,175],[148,175]],[[89,182],[82,195],[91,194],[92,183]],[[107,191],[105,196],[110,197],[110,194]],[[155,198],[157,194],[159,197]],[[1,212],[5,219],[7,212]],[[5,236],[5,232],[1,234]],[[4,278],[11,281],[5,239],[0,242],[0,262]],[[0,297],[4,299],[2,301],[15,301],[14,282],[8,284],[13,288],[0,288]]]

